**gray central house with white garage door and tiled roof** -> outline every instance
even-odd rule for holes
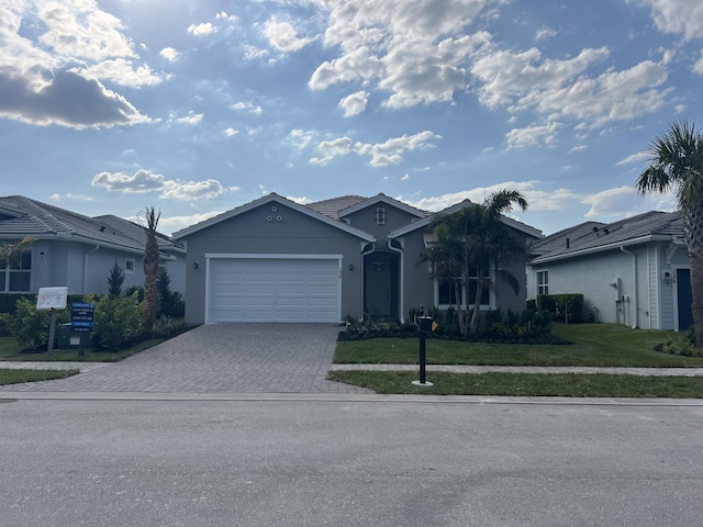
[[[445,213],[455,212],[459,203]],[[449,289],[417,256],[432,243],[433,214],[383,194],[308,205],[276,193],[177,233],[188,249],[186,319],[333,322],[345,316],[404,319],[411,307],[449,305]],[[510,218],[525,240],[540,233]],[[499,283],[482,309],[522,311],[521,294]]]

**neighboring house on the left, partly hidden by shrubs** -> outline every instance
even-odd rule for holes
[[[110,269],[125,273],[122,290],[144,285],[143,228],[116,216],[88,217],[22,195],[0,198],[0,244],[34,238],[9,269],[0,261],[0,293],[37,293],[68,287],[69,294],[107,293]],[[171,290],[185,291],[186,249],[159,235]]]

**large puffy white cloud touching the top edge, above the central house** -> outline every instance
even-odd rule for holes
[[[350,0],[330,3],[324,44],[339,56],[321,64],[312,89],[375,82],[391,92],[389,108],[451,102],[467,89],[464,63],[490,35],[465,34],[488,2],[477,0]],[[493,3],[493,2],[490,2]]]

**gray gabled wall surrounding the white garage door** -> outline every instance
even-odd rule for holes
[[[276,211],[271,211],[276,206]],[[271,221],[267,216],[272,216]],[[281,217],[278,221],[278,216]],[[314,220],[280,203],[264,203],[186,238],[186,321],[205,317],[205,254],[343,255],[342,314],[362,316],[362,247],[352,234]],[[193,264],[198,267],[193,268]],[[349,269],[353,266],[353,269]]]

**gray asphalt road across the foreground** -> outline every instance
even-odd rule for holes
[[[703,407],[0,404],[0,526],[693,526]]]

